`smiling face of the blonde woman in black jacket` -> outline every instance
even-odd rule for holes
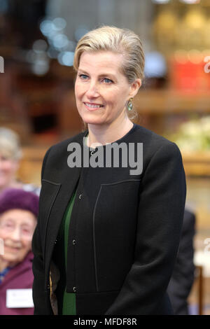
[[[81,55],[75,94],[78,113],[85,123],[110,125],[127,115],[127,101],[134,97],[140,85],[128,83],[120,70],[122,64],[123,55],[115,52],[83,52]]]

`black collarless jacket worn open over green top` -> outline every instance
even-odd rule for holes
[[[86,133],[52,146],[43,160],[32,241],[35,314],[56,312],[52,253],[77,183],[66,279],[67,292],[76,293],[77,314],[172,314],[166,290],[186,200],[179,148],[134,125],[117,142],[143,143],[141,174],[130,175],[129,165],[69,168],[68,145],[82,145]]]

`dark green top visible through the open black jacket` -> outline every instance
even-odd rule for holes
[[[62,224],[57,236],[57,245],[55,248],[55,262],[59,267],[60,279],[56,290],[58,314],[76,315],[76,295],[75,293],[66,293],[66,260],[67,246],[69,238],[69,223],[71,221],[71,211],[76,197],[73,193],[69,205],[64,214]]]

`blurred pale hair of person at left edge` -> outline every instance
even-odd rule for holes
[[[0,154],[11,160],[20,160],[22,151],[18,134],[8,128],[0,128]]]

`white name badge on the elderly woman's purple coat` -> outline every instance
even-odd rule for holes
[[[6,290],[6,307],[9,309],[34,307],[32,289]]]

